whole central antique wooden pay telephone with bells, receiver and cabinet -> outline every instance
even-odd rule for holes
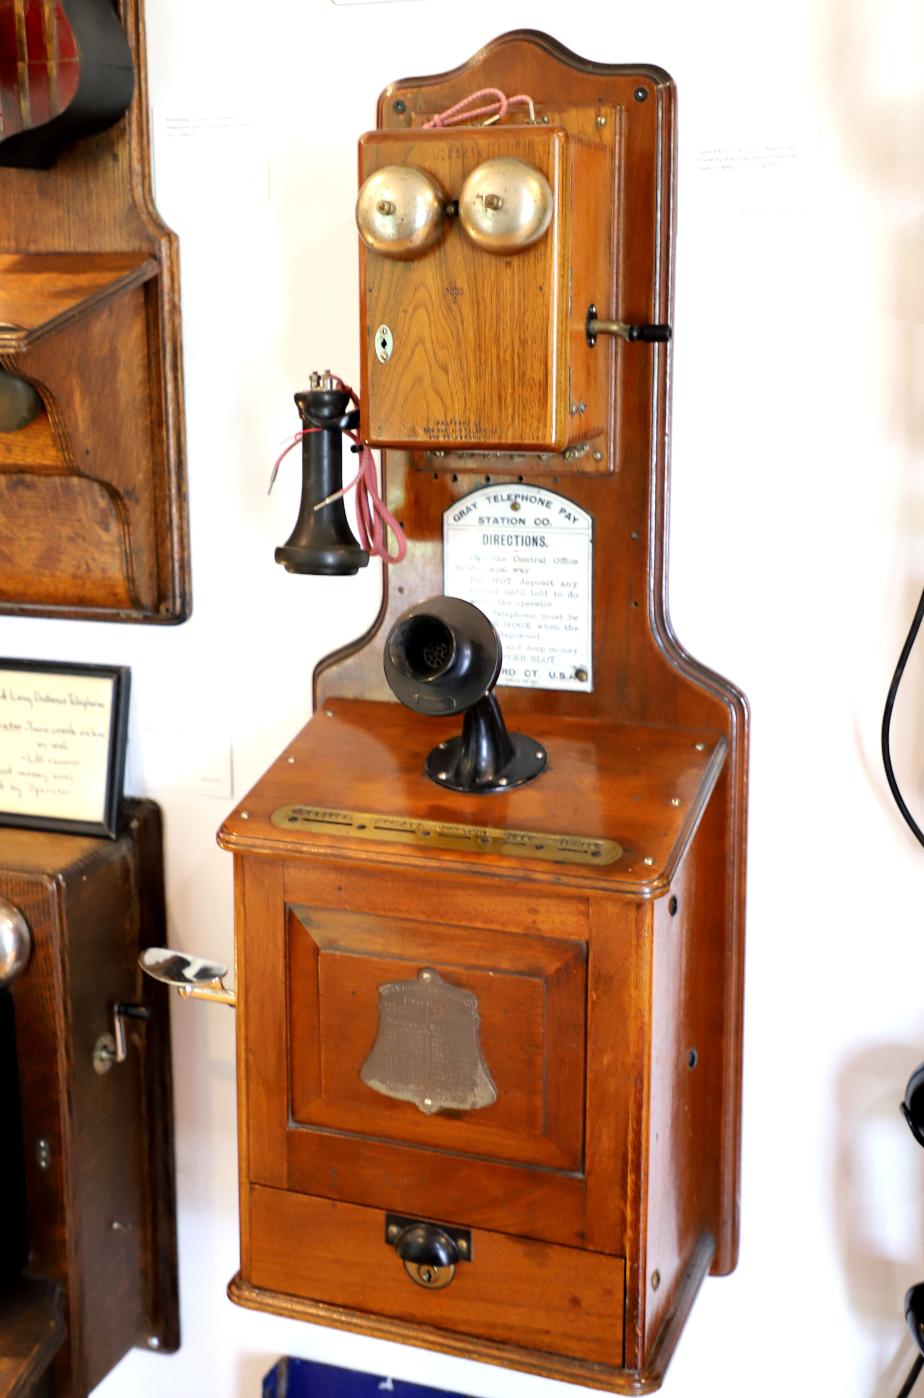
[[[615,1392],[738,1239],[746,706],[665,608],[674,122],[533,32],[383,94],[358,436],[405,555],[222,826],[236,990],[159,958],[236,1000],[233,1300]],[[348,394],[299,411],[277,556],[355,572]]]

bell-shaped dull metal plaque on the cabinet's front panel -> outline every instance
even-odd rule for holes
[[[498,1089],[481,1053],[478,997],[429,966],[379,986],[379,1035],[359,1076],[428,1116],[489,1107]]]

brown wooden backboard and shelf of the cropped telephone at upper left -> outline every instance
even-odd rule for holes
[[[178,622],[192,605],[178,245],[151,193],[143,0],[117,8],[126,116],[50,169],[0,176],[0,366],[45,407],[0,443],[0,507],[22,541],[0,558],[0,612]]]

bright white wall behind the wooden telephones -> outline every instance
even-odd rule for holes
[[[910,1363],[902,1297],[924,1278],[924,1158],[896,1110],[924,1057],[921,850],[878,758],[924,580],[924,11],[148,8],[158,201],[182,242],[196,610],[175,630],[7,619],[0,650],[131,665],[133,790],[165,809],[171,939],[228,960],[214,832],[232,797],[205,793],[229,752],[233,797],[247,790],[308,719],[315,661],[376,607],[372,569],[274,565],[298,468],[271,499],[266,481],[308,372],[356,375],[355,141],[379,89],[523,24],[675,77],[672,611],[748,692],[753,765],[741,1265],[706,1283],[664,1392],[889,1398]],[[205,126],[180,136],[180,117]],[[918,812],[923,665],[896,716]],[[101,1395],[250,1398],[280,1353],[484,1398],[577,1392],[232,1307],[233,1016],[173,1015],[185,1343],[134,1352]]]

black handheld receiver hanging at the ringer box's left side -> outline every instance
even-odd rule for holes
[[[275,561],[288,573],[349,577],[366,566],[369,555],[347,523],[342,495],[320,509],[315,506],[342,488],[341,433],[356,426],[359,414],[348,411],[349,394],[329,372],[310,376],[310,389],[295,394],[295,407],[305,429],[302,502],[295,528],[277,548]]]

